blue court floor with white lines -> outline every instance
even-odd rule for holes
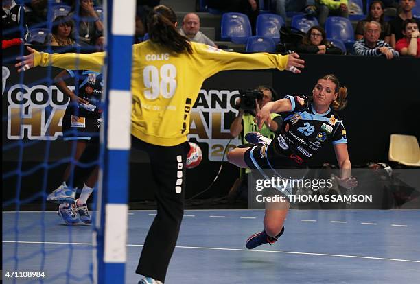
[[[126,283],[140,279],[134,271],[154,215],[129,213]],[[276,244],[247,250],[263,216],[185,211],[165,283],[420,283],[419,210],[291,210]],[[41,269],[43,283],[92,283],[94,242],[91,226],[65,226],[54,212],[3,213],[3,283],[41,283],[5,277]]]

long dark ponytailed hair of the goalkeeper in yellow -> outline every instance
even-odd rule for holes
[[[176,30],[176,14],[174,10],[164,5],[156,6],[148,19],[149,38],[177,54],[187,51],[192,54],[188,38],[181,36]]]

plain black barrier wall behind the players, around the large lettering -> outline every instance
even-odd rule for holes
[[[12,58],[12,57],[8,57]],[[420,60],[412,58],[364,58],[355,56],[302,56],[306,61],[303,73],[294,75],[277,70],[225,71],[206,80],[205,90],[237,90],[269,84],[282,97],[289,94],[309,95],[316,80],[327,73],[335,73],[342,85],[349,89],[349,104],[340,112],[347,128],[349,153],[353,165],[368,161],[388,161],[389,135],[414,134],[420,137]],[[19,83],[14,73],[13,60],[3,60],[11,74],[8,86]],[[5,64],[8,61],[8,64]],[[59,69],[35,68],[25,73],[24,84],[47,84]],[[5,93],[7,93],[7,88]],[[10,147],[6,136],[8,102],[3,95],[3,200],[16,197],[16,186],[20,185],[19,198],[32,196],[40,189],[48,192],[60,184],[65,163],[60,158],[67,156],[67,148],[60,140],[31,141],[25,147]],[[229,113],[224,127],[229,129],[234,113]],[[227,142],[227,141],[226,141]],[[207,144],[200,143],[204,154],[202,164],[187,172],[187,197],[205,189],[213,181],[220,162],[207,161]],[[45,151],[49,149],[49,157]],[[316,167],[323,162],[336,163],[334,150],[326,147],[312,161]],[[5,174],[16,169],[25,172],[18,180],[16,176],[5,178]],[[224,162],[223,170],[210,191],[202,198],[224,196],[229,191],[239,170]],[[152,199],[154,182],[151,179],[148,158],[141,152],[132,152],[130,163],[130,201]],[[36,196],[34,196],[36,199]]]

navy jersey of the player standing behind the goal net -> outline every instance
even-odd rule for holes
[[[79,80],[75,94],[89,102],[89,104],[78,104],[78,108],[72,105],[71,107],[74,108],[72,113],[80,117],[99,118],[102,114],[102,74],[89,70],[67,70],[67,73]]]

